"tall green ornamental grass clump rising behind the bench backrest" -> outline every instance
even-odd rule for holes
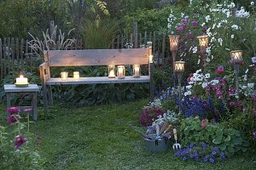
[[[110,48],[119,32],[116,20],[86,20],[80,29],[84,47],[90,49]]]

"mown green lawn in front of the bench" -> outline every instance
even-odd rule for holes
[[[40,155],[45,169],[256,169],[256,156],[214,164],[183,162],[168,150],[150,153],[136,129],[141,100],[124,105],[67,109],[55,105],[51,118],[32,124],[42,136]],[[5,110],[1,107],[2,113]],[[3,114],[1,116],[3,118]],[[40,118],[40,115],[39,115]]]

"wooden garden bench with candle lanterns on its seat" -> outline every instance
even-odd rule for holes
[[[149,62],[152,48],[124,49],[85,49],[85,50],[49,50],[44,51],[44,63],[39,66],[40,78],[44,94],[44,108],[52,105],[51,86],[65,84],[97,84],[149,82],[150,100],[153,99],[152,80],[153,63]],[[88,66],[88,65],[148,65],[148,75],[140,78],[125,77],[125,79],[108,77],[80,77],[79,79],[50,77],[51,66]]]

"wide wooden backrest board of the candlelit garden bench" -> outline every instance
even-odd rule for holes
[[[49,66],[147,65],[148,50],[151,48],[50,50],[47,55]]]

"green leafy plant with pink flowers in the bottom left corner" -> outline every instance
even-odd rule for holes
[[[26,131],[27,123],[15,122],[9,127],[0,126],[0,169],[41,169],[42,159],[35,148],[36,137]],[[15,148],[15,136],[22,133],[26,144]]]

